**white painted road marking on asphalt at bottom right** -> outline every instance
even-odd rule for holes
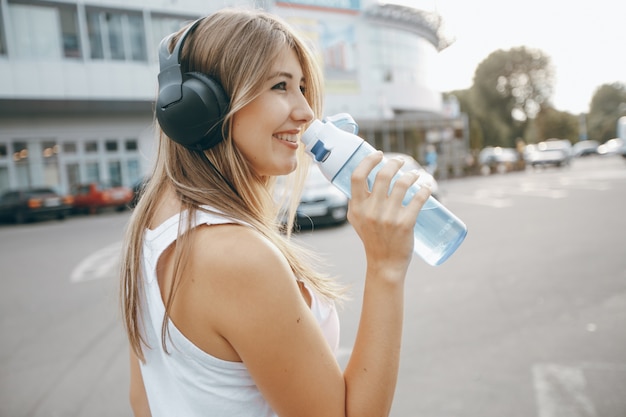
[[[536,364],[532,372],[538,417],[597,417],[581,368]]]

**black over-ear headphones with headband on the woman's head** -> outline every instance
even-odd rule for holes
[[[200,72],[182,73],[180,55],[185,38],[202,19],[181,35],[172,53],[166,36],[159,45],[159,96],[156,117],[173,141],[195,150],[209,149],[223,140],[222,124],[229,97],[213,78]]]

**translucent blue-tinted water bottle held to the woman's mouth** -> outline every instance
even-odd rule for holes
[[[369,143],[356,135],[357,129],[352,117],[342,113],[324,121],[314,120],[302,135],[306,152],[313,157],[324,175],[348,197],[351,196],[352,172],[363,158],[376,152]],[[370,189],[384,162],[368,176]],[[417,184],[411,186],[403,203],[408,204],[418,190]],[[465,224],[439,201],[430,197],[415,223],[414,252],[429,265],[441,265],[456,251],[466,235]]]

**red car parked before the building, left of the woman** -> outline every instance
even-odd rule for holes
[[[133,199],[130,187],[91,182],[72,187],[74,212],[95,214],[103,209],[123,211]]]

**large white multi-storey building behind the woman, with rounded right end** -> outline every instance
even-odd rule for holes
[[[447,46],[432,12],[374,0],[0,0],[0,192],[140,180],[154,153],[157,45],[231,5],[282,16],[311,42],[327,114],[352,114],[383,150],[421,159],[434,143],[456,170],[467,129],[431,87]]]

